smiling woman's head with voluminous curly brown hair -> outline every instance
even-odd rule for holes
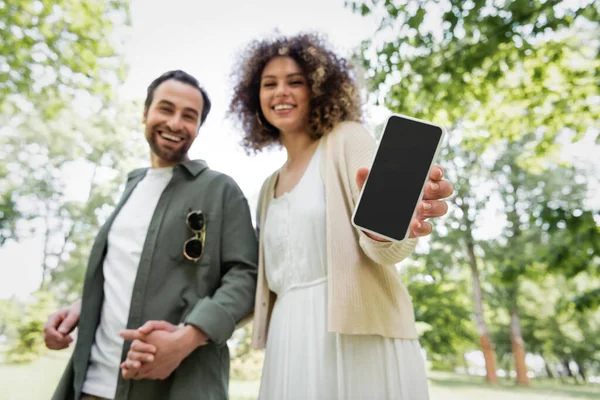
[[[280,99],[282,91],[293,92],[302,101],[307,97],[308,108],[290,114],[306,113],[304,125],[312,139],[319,139],[340,121],[360,121],[360,96],[354,85],[353,70],[318,36],[252,42],[242,58],[247,62],[241,63],[242,68],[234,73],[237,85],[229,113],[243,129],[242,144],[247,152],[281,144],[279,129],[273,125],[275,120],[270,121],[266,115],[274,112],[277,104],[269,107],[263,102],[275,101],[276,96]],[[278,70],[278,74],[273,72]],[[258,92],[260,97],[256,96]],[[286,107],[298,105],[278,106],[280,114],[270,116],[285,117]]]

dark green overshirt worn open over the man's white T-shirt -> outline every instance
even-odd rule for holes
[[[73,356],[53,399],[79,400],[104,299],[102,265],[115,216],[147,169],[128,175],[115,211],[100,229],[83,285],[81,317]],[[183,256],[193,236],[185,223],[191,210],[206,218],[206,242],[198,262]],[[176,165],[150,226],[133,288],[127,328],[148,320],[198,326],[209,344],[193,351],[164,381],[125,381],[119,373],[115,400],[227,399],[229,351],[226,341],[254,307],[258,244],[248,203],[227,175],[204,161]],[[126,358],[129,342],[123,346]]]

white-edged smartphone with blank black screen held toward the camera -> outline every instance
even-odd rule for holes
[[[440,125],[400,114],[390,116],[352,224],[387,240],[406,238],[445,135]]]

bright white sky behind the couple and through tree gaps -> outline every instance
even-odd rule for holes
[[[373,35],[378,24],[372,18],[352,13],[344,7],[344,0],[132,0],[131,17],[132,27],[119,31],[119,37],[125,40],[124,53],[130,67],[125,84],[118,89],[120,95],[143,99],[148,84],[172,69],[183,69],[197,77],[211,97],[212,109],[190,157],[204,159],[212,169],[233,177],[251,208],[262,182],[284,163],[285,155],[282,151],[267,151],[248,157],[239,146],[240,133],[225,115],[236,54],[251,39],[271,35],[277,29],[283,34],[321,32],[338,53],[347,56],[363,39]],[[140,137],[141,114],[142,110]],[[388,115],[385,109],[369,108],[368,127],[373,129]],[[565,150],[568,158],[596,159],[600,176],[597,153],[598,147],[589,142]],[[80,187],[85,189],[88,178],[85,171],[74,171],[74,192]],[[593,204],[600,208],[600,191],[596,194]],[[504,221],[497,216],[484,213],[483,218],[483,225],[489,227],[483,234],[494,236],[503,228]],[[19,244],[10,242],[0,248],[0,298],[24,297],[39,287],[42,248],[41,237]]]

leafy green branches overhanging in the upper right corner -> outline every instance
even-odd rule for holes
[[[564,130],[574,139],[600,131],[598,2],[348,4],[381,18],[361,58],[390,110],[446,126],[468,121],[490,143],[536,132],[536,154],[552,149]]]

